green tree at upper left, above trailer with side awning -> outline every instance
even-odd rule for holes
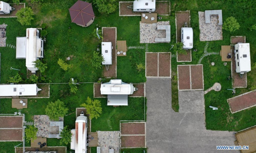
[[[31,25],[31,20],[33,20],[34,12],[31,8],[25,7],[21,8],[20,11],[16,13],[17,20],[21,25]]]

